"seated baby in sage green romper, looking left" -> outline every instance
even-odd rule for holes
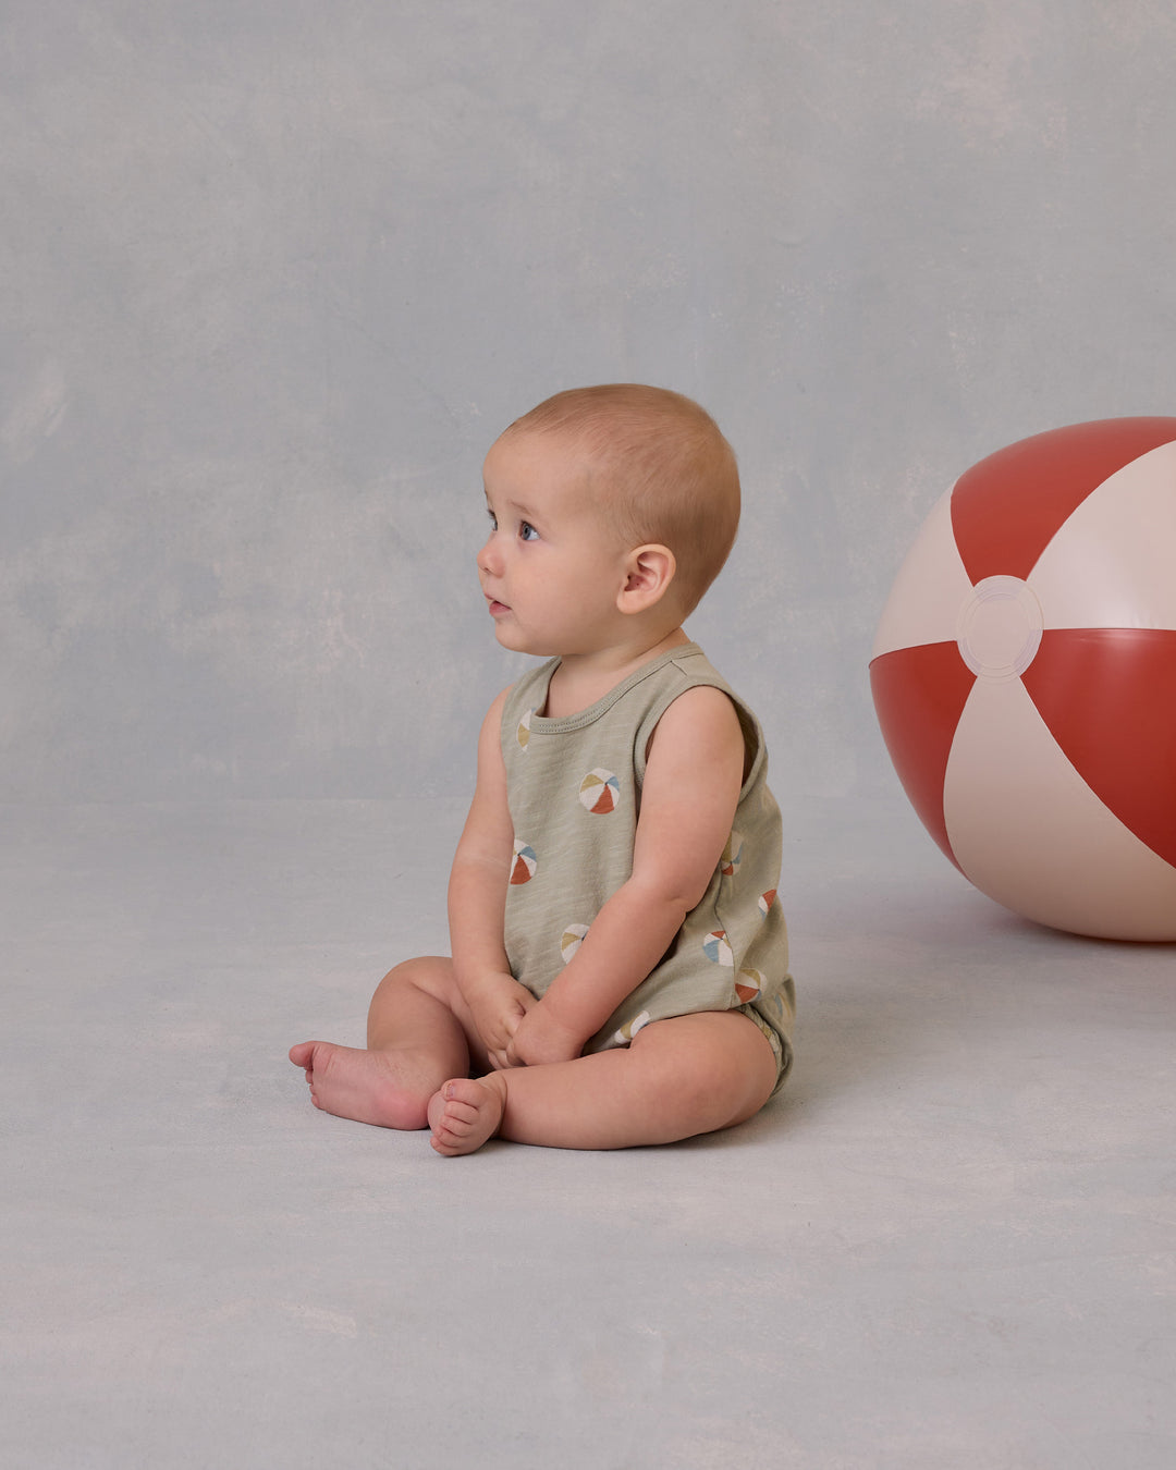
[[[494,632],[548,662],[482,725],[453,957],[381,980],[366,1050],[290,1060],[316,1107],[441,1154],[731,1127],[794,1014],[760,728],[682,629],[735,539],[735,456],[689,398],[617,384],[512,423],[484,478]]]

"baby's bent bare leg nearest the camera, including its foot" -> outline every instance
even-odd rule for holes
[[[653,1022],[626,1048],[456,1078],[429,1122],[442,1154],[470,1152],[495,1132],[550,1148],[632,1148],[742,1123],[775,1085],[763,1032],[738,1011],[701,1011]]]

